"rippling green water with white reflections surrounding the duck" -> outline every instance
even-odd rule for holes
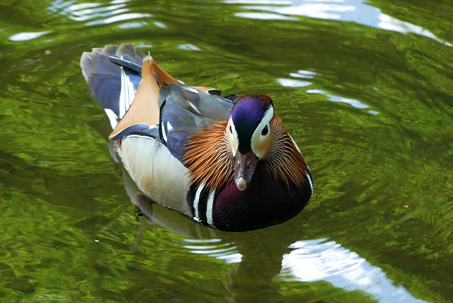
[[[453,301],[452,1],[19,0],[0,16],[1,302]],[[314,177],[302,214],[226,233],[139,212],[79,69],[122,42],[186,83],[271,96]]]

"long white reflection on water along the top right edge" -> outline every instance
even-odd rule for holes
[[[241,12],[235,16],[253,19],[269,19],[262,11],[272,13],[273,19],[287,20],[290,16],[304,16],[309,18],[327,19],[355,22],[382,30],[391,30],[398,33],[414,33],[452,46],[449,42],[437,38],[429,30],[393,18],[379,8],[370,6],[362,0],[292,0],[292,1],[253,1],[253,0],[225,0],[227,4],[246,4],[243,6],[248,11]],[[280,16],[280,17],[279,17]]]

